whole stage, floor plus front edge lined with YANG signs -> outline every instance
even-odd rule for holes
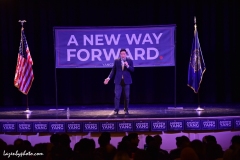
[[[176,108],[175,108],[176,107]],[[239,130],[240,104],[197,105],[131,104],[129,115],[113,105],[29,106],[0,109],[2,133],[5,132],[127,132]],[[69,108],[69,111],[68,109]]]

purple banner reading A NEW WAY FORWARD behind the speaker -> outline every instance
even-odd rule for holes
[[[175,66],[175,25],[54,27],[56,68],[107,68],[125,48],[135,67]]]

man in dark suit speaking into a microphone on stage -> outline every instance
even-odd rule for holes
[[[120,97],[123,90],[124,93],[124,112],[128,113],[129,106],[129,94],[130,94],[130,84],[132,84],[131,73],[134,71],[133,61],[127,58],[127,51],[125,49],[120,50],[120,58],[114,60],[113,68],[105,79],[104,84],[108,84],[109,80],[115,75],[115,99],[114,99],[114,114],[118,114]]]

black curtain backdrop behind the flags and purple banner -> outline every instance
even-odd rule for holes
[[[202,103],[237,103],[239,93],[239,3],[237,0],[0,0],[0,106],[26,105],[13,85],[21,25],[34,61],[30,105],[55,105],[54,26],[138,26],[176,24],[174,67],[135,68],[131,103],[197,103],[187,71],[197,17],[207,70]],[[60,105],[113,103],[114,84],[103,84],[110,68],[58,69]]]

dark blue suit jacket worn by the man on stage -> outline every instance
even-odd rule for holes
[[[114,83],[120,84],[122,80],[122,76],[124,79],[125,84],[131,84],[132,83],[132,77],[131,73],[134,71],[133,67],[133,61],[130,58],[126,58],[126,61],[128,62],[129,67],[127,68],[124,66],[124,69],[122,70],[122,60],[121,58],[114,60],[113,68],[109,74],[109,78],[112,79],[112,77],[115,75]]]

